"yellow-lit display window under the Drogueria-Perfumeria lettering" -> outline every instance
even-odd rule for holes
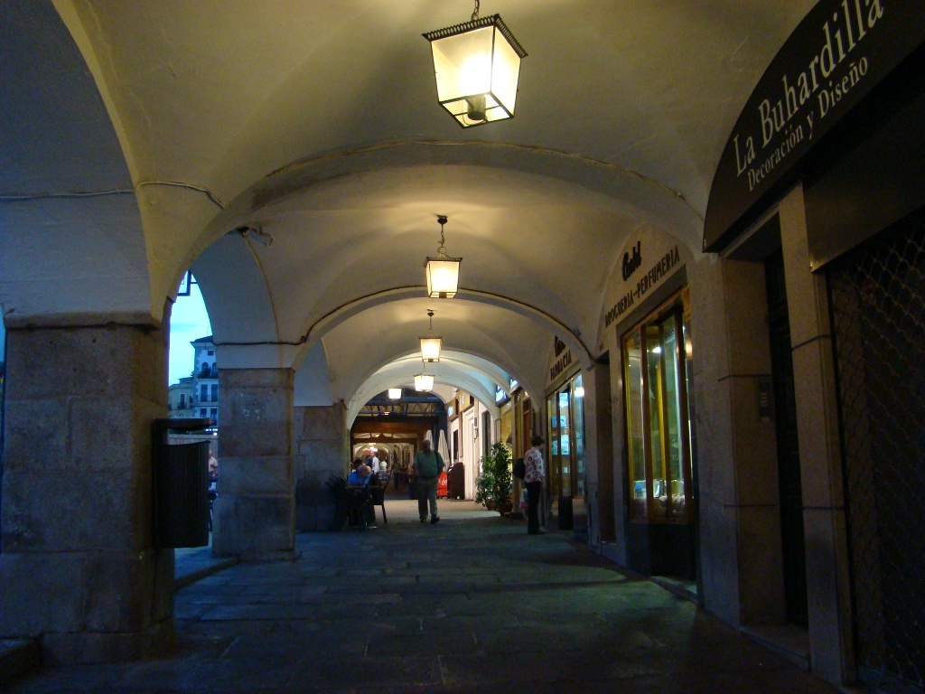
[[[623,335],[630,519],[687,523],[693,510],[687,291]]]

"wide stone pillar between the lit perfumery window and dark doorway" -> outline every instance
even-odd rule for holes
[[[764,266],[703,256],[690,271],[704,604],[736,626],[783,623]]]

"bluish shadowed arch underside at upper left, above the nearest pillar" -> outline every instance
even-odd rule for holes
[[[9,7],[0,42],[6,324],[150,324],[164,298],[153,298],[142,210],[117,127],[77,43],[51,3],[28,12]]]

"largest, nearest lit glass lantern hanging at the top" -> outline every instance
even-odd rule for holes
[[[526,51],[500,15],[427,31],[434,55],[437,100],[462,128],[513,118],[517,79]]]

